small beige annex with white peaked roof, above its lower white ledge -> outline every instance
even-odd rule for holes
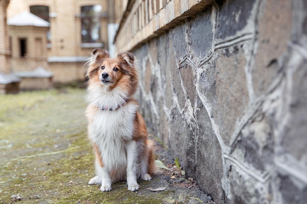
[[[48,68],[47,31],[49,23],[23,12],[7,21],[9,26],[11,68],[13,72]]]

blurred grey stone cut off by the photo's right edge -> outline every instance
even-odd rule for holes
[[[290,96],[285,96],[284,100],[290,99],[288,120],[285,124],[281,145],[283,151],[291,154],[298,161],[307,165],[307,60],[293,58],[295,71],[291,76],[292,84],[289,90]]]

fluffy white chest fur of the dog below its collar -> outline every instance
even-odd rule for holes
[[[137,109],[137,105],[127,104],[116,111],[98,110],[89,125],[89,137],[98,146],[109,171],[126,168],[126,144],[132,139]]]

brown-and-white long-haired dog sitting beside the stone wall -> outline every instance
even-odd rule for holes
[[[96,170],[89,184],[101,184],[103,192],[111,190],[112,182],[124,180],[128,190],[137,191],[137,181],[151,180],[157,169],[152,141],[133,99],[138,87],[134,61],[130,52],[110,58],[106,50],[96,48],[86,63],[89,105],[85,116]]]

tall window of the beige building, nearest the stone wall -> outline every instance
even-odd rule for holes
[[[102,6],[81,6],[82,43],[100,43]]]

